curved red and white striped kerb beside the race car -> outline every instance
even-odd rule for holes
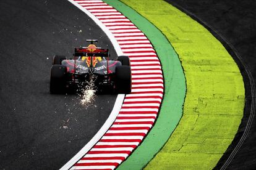
[[[69,168],[114,169],[142,142],[156,120],[164,91],[161,64],[145,34],[121,12],[103,1],[75,2],[106,26],[123,54],[129,56],[132,92],[126,95],[108,131]]]

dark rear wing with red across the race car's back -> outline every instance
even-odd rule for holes
[[[89,56],[89,57],[109,57],[108,49],[96,49],[90,52],[87,48],[75,48],[75,57]]]

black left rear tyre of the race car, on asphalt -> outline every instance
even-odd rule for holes
[[[65,90],[66,66],[53,65],[51,67],[50,93],[61,94]]]

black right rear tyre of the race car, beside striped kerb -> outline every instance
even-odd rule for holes
[[[130,66],[122,65],[116,67],[116,92],[118,94],[129,94],[132,89]]]

